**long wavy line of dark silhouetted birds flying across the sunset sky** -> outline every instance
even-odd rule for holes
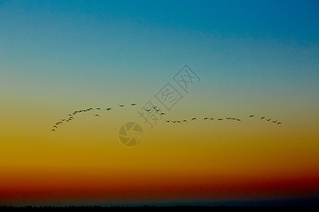
[[[118,105],[118,106],[119,106],[119,107],[124,107],[125,105]],[[135,104],[135,103],[131,103],[130,106],[136,106],[136,104]],[[56,122],[55,125],[52,127],[52,130],[51,130],[51,131],[55,131],[55,130],[57,129],[57,127],[58,127],[59,124],[63,124],[63,123],[65,123],[65,122],[71,122],[71,121],[74,119],[74,116],[75,116],[76,114],[79,114],[79,113],[81,113],[81,112],[89,112],[89,111],[91,111],[91,110],[93,111],[93,110],[102,110],[102,109],[101,109],[100,107],[96,107],[95,109],[94,109],[93,107],[90,107],[90,108],[85,109],[85,110],[76,110],[76,111],[74,111],[74,112],[72,112],[72,113],[70,113],[70,114],[67,114],[67,115],[69,116],[67,119],[61,119],[59,122]],[[112,108],[111,108],[111,107],[108,107],[108,108],[106,108],[105,110],[106,110],[106,111],[110,111],[110,110],[112,110]],[[157,114],[159,114],[159,115],[161,115],[161,116],[165,114],[164,112],[160,112],[160,110],[158,110],[157,107],[151,107],[150,109],[145,109],[145,111],[147,111],[147,112],[151,112],[152,110],[155,110],[155,112],[157,112]],[[99,115],[99,114],[94,114],[94,117],[100,117],[100,115]],[[250,117],[252,118],[252,117],[254,117],[254,115],[251,114]],[[237,118],[233,118],[233,117],[227,117],[227,118],[225,118],[225,119],[235,120],[235,121],[237,121],[237,122],[241,122],[241,119],[237,119]],[[266,120],[267,122],[270,122],[270,120],[272,120],[272,119],[266,119],[266,117],[261,117],[260,119],[264,119],[264,120]],[[197,120],[196,117],[194,117],[194,118],[191,119],[191,121],[196,121],[196,120]],[[204,117],[203,120],[207,120],[207,121],[208,121],[208,120],[214,120],[214,118],[213,118],[213,117],[211,117],[211,118]],[[218,121],[223,121],[224,119],[218,118],[217,120],[218,120]],[[165,122],[167,122],[167,123],[170,122],[170,123],[175,124],[175,123],[188,122],[188,121],[187,121],[186,119],[183,119],[183,120],[165,120]],[[277,120],[276,120],[276,121],[272,121],[272,123],[274,123],[274,124],[281,124],[281,122],[278,122]]]

